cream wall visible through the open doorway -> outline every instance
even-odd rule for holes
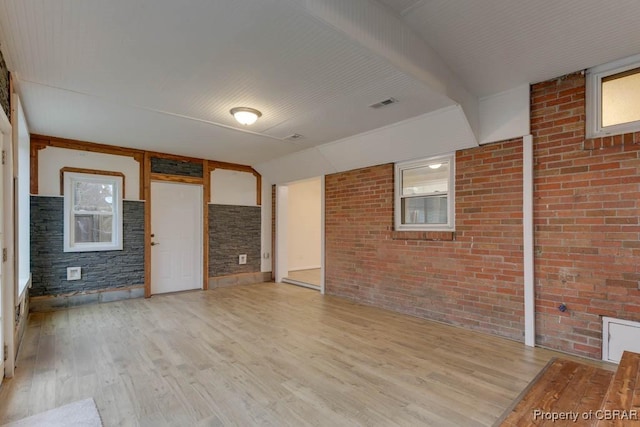
[[[320,268],[322,199],[320,178],[288,184],[289,271]]]

